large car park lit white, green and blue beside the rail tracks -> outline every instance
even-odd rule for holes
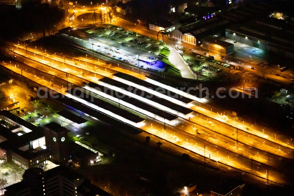
[[[163,48],[160,41],[112,25],[102,25],[86,33],[91,35],[90,42],[97,52],[149,71],[165,70],[158,56]]]

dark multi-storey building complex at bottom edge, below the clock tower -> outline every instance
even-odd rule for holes
[[[65,166],[43,171],[30,168],[24,172],[23,180],[5,188],[6,196],[111,196],[94,186],[82,174]]]

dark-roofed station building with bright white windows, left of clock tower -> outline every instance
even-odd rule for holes
[[[43,167],[50,159],[44,130],[6,111],[0,112],[0,157],[28,169]]]

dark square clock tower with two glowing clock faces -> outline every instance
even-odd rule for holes
[[[68,130],[56,122],[50,122],[44,126],[44,131],[46,147],[49,148],[52,159],[67,162],[69,160]]]

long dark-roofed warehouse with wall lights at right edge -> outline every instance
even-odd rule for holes
[[[294,31],[292,24],[271,17],[250,20],[245,24],[233,24],[225,30],[225,36],[249,46],[294,58]]]

